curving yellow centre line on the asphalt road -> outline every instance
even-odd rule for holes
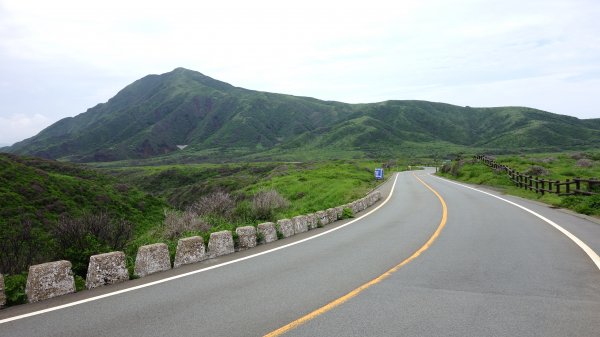
[[[408,264],[409,262],[411,262],[412,260],[416,259],[419,255],[421,255],[424,251],[426,251],[427,249],[429,249],[429,247],[431,247],[431,245],[433,244],[433,242],[438,238],[438,236],[440,235],[442,229],[444,228],[444,226],[446,226],[446,221],[448,219],[448,207],[446,206],[446,202],[444,201],[444,199],[442,198],[442,196],[436,191],[434,190],[431,186],[427,185],[423,180],[421,180],[419,177],[417,177],[416,174],[413,173],[413,176],[415,178],[417,178],[417,180],[419,180],[421,182],[421,184],[425,185],[425,187],[427,187],[431,192],[433,192],[433,194],[435,194],[435,196],[439,199],[440,203],[442,204],[442,220],[440,221],[440,224],[438,226],[438,228],[435,230],[435,232],[433,233],[433,235],[429,238],[429,240],[427,240],[427,242],[425,242],[425,244],[419,248],[416,252],[414,252],[410,257],[408,257],[406,260],[400,262],[400,264],[394,266],[392,269],[386,271],[385,273],[383,273],[382,275],[378,276],[377,278],[361,285],[360,287],[352,290],[351,292],[347,293],[346,295],[334,300],[333,302],[330,302],[322,307],[320,307],[319,309],[303,316],[300,317],[299,319],[288,323],[287,325],[282,326],[281,328],[272,331],[266,335],[264,335],[263,337],[277,337],[277,336],[281,336],[284,333],[294,330],[295,328],[299,327],[300,325],[318,317],[323,315],[324,313],[331,311],[332,309],[334,309],[335,307],[349,301],[350,299],[356,297],[358,294],[360,294],[361,292],[365,291],[366,289],[372,287],[373,285],[380,283],[381,281],[385,280],[386,278],[390,277],[393,273],[397,272],[400,268],[404,267],[406,264]]]

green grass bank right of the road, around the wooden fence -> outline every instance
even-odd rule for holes
[[[532,174],[544,179],[560,180],[580,177],[600,178],[600,152],[551,153],[520,156],[497,156],[496,162],[521,173]],[[518,188],[504,172],[495,171],[471,159],[453,161],[439,174],[472,184],[499,188],[502,192],[541,201],[556,207],[574,210],[578,213],[600,216],[600,195],[595,196],[559,196],[556,194],[535,193]]]

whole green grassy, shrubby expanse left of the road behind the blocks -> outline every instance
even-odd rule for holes
[[[381,163],[201,164],[90,169],[0,155],[0,270],[8,305],[24,303],[29,265],[66,259],[83,288],[89,256],[235,230],[345,204],[375,187]],[[110,173],[110,174],[107,174]],[[253,207],[276,191],[283,202]],[[219,199],[220,198],[220,199]],[[186,218],[187,217],[187,218]]]

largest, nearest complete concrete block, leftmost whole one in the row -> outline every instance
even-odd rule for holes
[[[65,260],[30,266],[25,286],[29,303],[75,292],[71,267]]]

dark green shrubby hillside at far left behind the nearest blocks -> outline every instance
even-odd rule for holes
[[[68,259],[81,274],[87,256],[160,224],[165,206],[81,166],[0,154],[0,272]]]

